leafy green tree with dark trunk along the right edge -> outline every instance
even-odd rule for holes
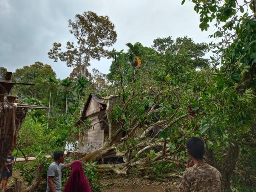
[[[182,0],[184,4],[185,0]],[[218,79],[216,85],[225,85],[225,92],[232,95],[229,108],[239,108],[238,103],[242,97],[251,100],[255,104],[256,88],[256,1],[255,0],[192,0],[195,4],[194,10],[200,15],[200,29],[208,30],[210,22],[215,22],[216,32],[211,38],[219,39],[218,43],[211,43],[210,48],[215,53],[212,57],[214,66],[221,65],[220,70],[215,68]],[[226,74],[226,76],[222,76]],[[232,92],[231,92],[232,90]],[[230,178],[239,158],[240,148],[246,147],[245,143],[237,142],[243,140],[245,135],[250,132],[248,126],[252,127],[252,116],[256,112],[248,109],[242,110],[244,106],[229,118],[229,126],[226,126],[227,132],[232,132],[226,139],[225,157],[218,157],[219,146],[215,146],[215,152],[209,150],[206,155],[210,163],[219,168],[224,188],[231,192]],[[241,113],[243,111],[243,113]],[[233,111],[231,111],[232,114]],[[227,116],[227,113],[225,113]],[[234,118],[235,117],[235,118]],[[238,121],[239,118],[244,119]],[[232,122],[232,124],[231,124]],[[246,134],[243,132],[246,129]],[[209,132],[208,132],[209,133]],[[211,136],[211,135],[208,135]],[[253,140],[253,137],[250,137]],[[248,146],[247,146],[248,147]]]

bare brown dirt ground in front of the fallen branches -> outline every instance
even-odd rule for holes
[[[21,180],[18,171],[14,170],[13,177],[8,184],[9,187],[14,185],[15,178]],[[102,192],[178,192],[179,179],[152,181],[140,176],[129,176],[128,178],[111,174],[100,174],[100,179],[104,184]],[[27,186],[22,183],[22,191]]]

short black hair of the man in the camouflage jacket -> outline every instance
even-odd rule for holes
[[[203,159],[204,156],[204,140],[198,137],[190,137],[186,140],[186,147],[191,156],[195,159]]]

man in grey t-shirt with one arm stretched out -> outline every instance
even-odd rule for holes
[[[63,151],[54,152],[53,158],[54,162],[50,164],[47,171],[46,192],[61,192],[61,170],[71,167],[72,163],[62,164],[64,162]]]

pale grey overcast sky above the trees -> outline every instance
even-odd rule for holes
[[[0,66],[14,72],[36,61],[50,64],[60,79],[72,68],[55,63],[47,52],[53,42],[73,41],[68,19],[84,11],[108,15],[118,34],[112,48],[126,50],[127,42],[152,46],[158,37],[189,36],[195,42],[210,42],[199,29],[199,15],[186,0],[0,0]],[[112,49],[109,48],[109,49]],[[108,73],[111,60],[91,61],[92,68]]]

